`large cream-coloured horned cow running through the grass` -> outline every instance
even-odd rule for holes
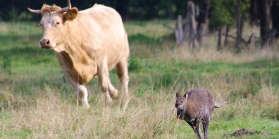
[[[76,7],[61,8],[43,4],[41,10],[42,39],[40,48],[53,49],[69,83],[78,92],[83,107],[89,108],[87,84],[98,78],[105,103],[112,103],[118,90],[109,79],[109,71],[117,68],[122,92],[128,97],[129,44],[121,16],[113,8],[95,4],[78,11]]]

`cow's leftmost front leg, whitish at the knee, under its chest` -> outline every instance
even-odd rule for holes
[[[88,100],[87,100],[88,93],[87,93],[86,87],[84,85],[74,81],[72,78],[69,78],[69,82],[71,83],[73,88],[76,91],[78,91],[78,96],[79,96],[79,98],[82,102],[82,106],[86,107],[86,108],[89,108],[90,105],[89,105]]]

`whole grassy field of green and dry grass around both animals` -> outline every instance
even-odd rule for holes
[[[38,23],[0,22],[0,138],[196,138],[174,107],[175,93],[193,88],[230,101],[213,112],[209,138],[279,138],[278,46],[217,52],[213,33],[201,48],[179,48],[164,23],[174,26],[125,23],[131,98],[105,107],[93,79],[86,85],[91,108],[83,109],[52,50],[38,47]],[[119,88],[115,69],[110,78]],[[227,135],[241,128],[271,134]]]

